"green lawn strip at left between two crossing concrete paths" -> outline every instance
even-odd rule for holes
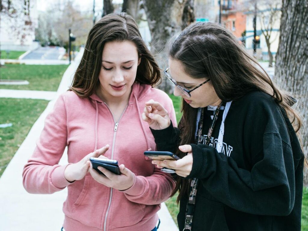
[[[6,64],[0,67],[1,79],[27,80],[28,85],[0,85],[0,89],[57,91],[68,65]]]

